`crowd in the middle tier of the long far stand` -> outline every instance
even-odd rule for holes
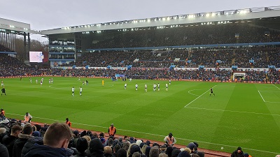
[[[85,53],[76,62],[59,66],[90,67],[148,67],[148,68],[267,68],[280,67],[278,47],[239,47],[221,49],[193,49],[172,51],[92,52]],[[252,63],[250,61],[253,60]]]

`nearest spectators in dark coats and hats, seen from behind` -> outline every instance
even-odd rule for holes
[[[204,157],[197,142],[179,148],[168,142],[150,142],[134,137],[114,137],[90,130],[71,130],[66,123],[29,124],[1,114],[1,157]]]

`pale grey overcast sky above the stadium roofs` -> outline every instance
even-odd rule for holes
[[[279,0],[1,0],[0,17],[44,30],[147,17],[280,6]]]

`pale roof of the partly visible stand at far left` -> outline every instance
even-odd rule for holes
[[[3,18],[0,18],[0,32],[15,33],[18,35],[23,35],[23,33],[41,34],[41,31],[31,30],[30,24]]]

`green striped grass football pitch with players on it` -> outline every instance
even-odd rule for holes
[[[41,86],[32,77],[3,78],[7,96],[0,107],[6,117],[23,119],[25,112],[32,121],[51,124],[69,117],[74,128],[108,130],[115,124],[120,135],[162,141],[172,132],[177,143],[198,142],[200,147],[232,152],[242,147],[252,156],[279,154],[280,86],[166,80],[118,80],[77,77],[44,77]],[[160,91],[153,84],[160,83]],[[138,91],[135,84],[139,84]],[[144,91],[148,85],[148,92]],[[71,96],[75,87],[75,96]],[[83,87],[83,96],[79,96]],[[213,87],[216,96],[209,96]],[[221,150],[223,147],[223,150]]]

